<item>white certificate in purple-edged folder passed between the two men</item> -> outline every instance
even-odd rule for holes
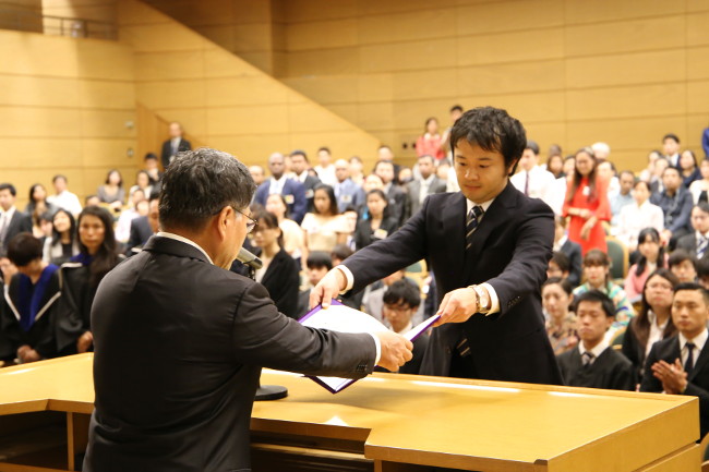
[[[413,327],[411,330],[404,335],[409,341],[413,341],[421,336],[426,329],[431,327],[438,316],[432,316],[425,322]],[[328,308],[323,310],[322,305],[315,306],[308,312],[305,316],[299,319],[303,326],[311,328],[327,329],[331,331],[339,332],[376,332],[388,331],[388,328],[380,323],[375,317],[368,315],[354,308],[343,305],[337,300],[331,302]],[[322,385],[331,394],[337,394],[349,387],[357,379],[341,378],[341,377],[322,377],[314,375],[307,375],[315,383]]]

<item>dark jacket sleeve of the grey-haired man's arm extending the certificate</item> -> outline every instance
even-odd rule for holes
[[[376,356],[370,335],[304,327],[279,314],[259,283],[241,294],[232,339],[238,362],[311,375],[361,378],[373,371]]]

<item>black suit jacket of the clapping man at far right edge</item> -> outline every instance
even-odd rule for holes
[[[645,362],[640,391],[662,391],[662,383],[652,375],[652,364],[660,360],[674,364],[675,359],[682,360],[678,335],[652,344]],[[704,437],[709,433],[709,342],[705,343],[704,349],[696,358],[687,382],[687,389],[683,395],[699,397],[699,429],[701,431],[700,437]]]

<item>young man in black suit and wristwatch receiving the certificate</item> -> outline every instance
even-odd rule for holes
[[[397,232],[331,270],[311,305],[425,258],[441,319],[422,374],[561,384],[541,307],[554,214],[509,183],[525,129],[505,110],[476,108],[456,121],[450,140],[460,192],[430,195]]]

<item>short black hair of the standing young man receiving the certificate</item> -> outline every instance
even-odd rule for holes
[[[460,140],[484,150],[502,154],[505,166],[512,166],[510,176],[515,173],[527,146],[527,133],[519,120],[512,118],[506,110],[493,107],[473,108],[456,121],[450,130],[450,149],[454,156]]]

